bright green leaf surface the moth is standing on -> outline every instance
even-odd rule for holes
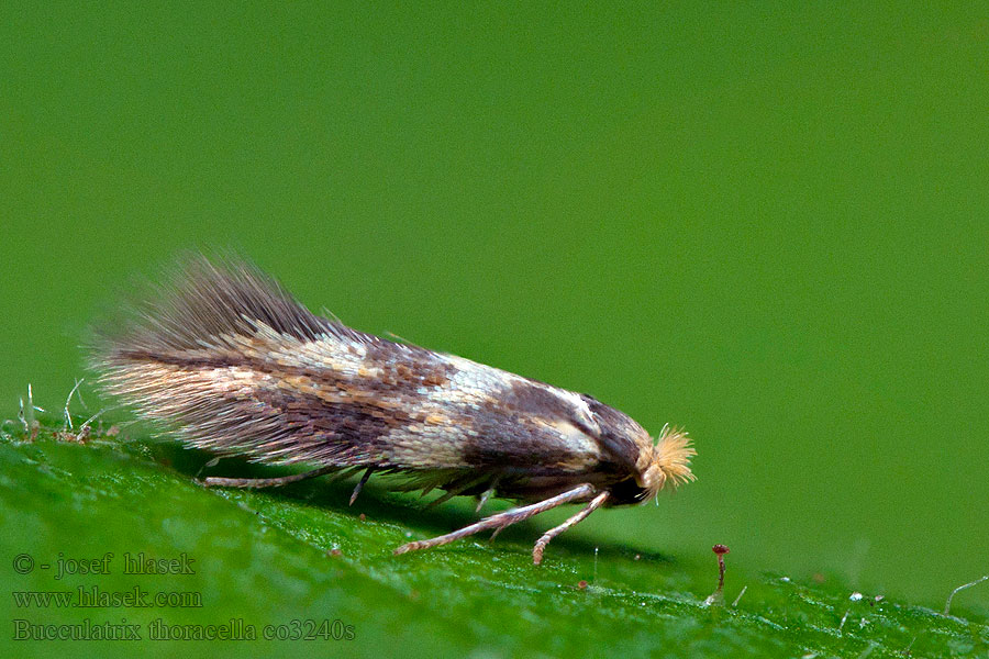
[[[853,596],[834,579],[798,583],[782,576],[737,573],[731,555],[723,600],[707,604],[718,581],[713,554],[697,561],[619,546],[596,539],[592,525],[554,540],[544,565],[533,566],[532,543],[566,511],[512,527],[494,543],[468,538],[396,557],[391,550],[409,538],[473,521],[470,502],[425,510],[423,500],[375,488],[374,480],[353,507],[347,505],[353,487],[347,483],[205,489],[196,477],[210,456],[175,443],[98,433],[80,440],[58,432],[62,424],[54,421],[43,422],[33,440],[14,433],[11,424],[4,427],[0,541],[11,593],[10,623],[2,634],[5,656],[73,648],[126,657],[137,651],[212,657],[985,657],[989,651],[985,619]],[[209,472],[271,473],[237,461]],[[133,563],[142,554],[145,559],[176,559],[166,566],[185,566],[195,573],[124,573],[126,559]],[[33,561],[26,573],[15,569],[20,555]],[[84,565],[105,567],[108,573],[78,573]],[[59,569],[77,573],[59,574]],[[62,607],[24,600],[33,596],[25,593],[64,591],[78,601],[80,587],[84,593],[105,596],[136,587],[147,597],[160,592],[171,600],[140,608]],[[57,634],[58,625],[82,625],[87,618],[90,628],[107,622],[137,625],[142,640],[15,640],[19,630]],[[164,629],[173,636],[209,634],[210,625],[213,634],[222,633],[222,625],[232,634],[249,627],[257,638],[149,638]],[[288,638],[267,640],[266,630]],[[292,639],[293,634],[309,638]]]

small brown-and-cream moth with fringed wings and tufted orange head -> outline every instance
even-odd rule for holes
[[[518,507],[403,554],[502,528],[566,503],[582,510],[640,504],[693,480],[686,433],[654,440],[594,398],[469,359],[347,327],[311,313],[275,279],[233,258],[191,256],[166,284],[95,333],[91,364],[105,392],[191,447],[309,469],[280,478],[207,478],[237,488],[324,474],[371,474],[396,490],[443,490]]]

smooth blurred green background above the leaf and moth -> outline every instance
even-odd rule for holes
[[[981,4],[4,3],[0,416],[234,247],[686,426],[698,481],[585,537],[941,606],[986,571],[987,47]]]

